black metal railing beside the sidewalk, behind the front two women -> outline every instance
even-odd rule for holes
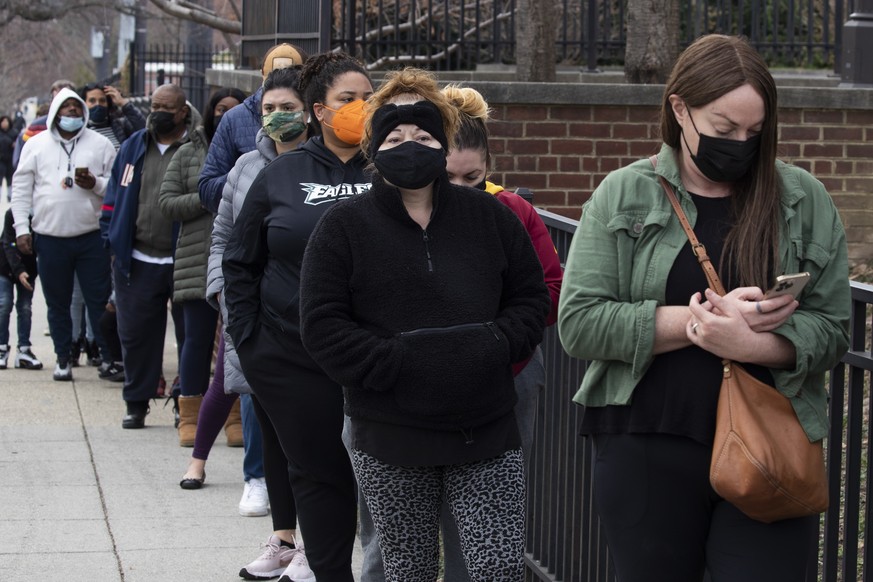
[[[539,211],[561,262],[576,221]],[[873,371],[870,313],[873,286],[852,282],[851,347],[830,375],[831,431],[826,442],[830,509],[822,520],[819,560],[806,582],[873,580],[866,524],[871,493],[869,383]],[[570,358],[554,326],[543,343],[541,395],[528,480],[526,580],[613,582],[599,519],[592,508],[593,451],[578,436],[580,407],[571,402],[585,363]],[[798,581],[803,582],[803,581]]]

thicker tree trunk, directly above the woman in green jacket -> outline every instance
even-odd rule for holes
[[[628,0],[624,54],[626,81],[665,83],[678,56],[678,0]]]

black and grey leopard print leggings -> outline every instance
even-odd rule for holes
[[[399,467],[359,450],[352,465],[367,499],[388,582],[434,582],[440,505],[458,525],[473,582],[524,577],[524,461],[521,449],[463,465]]]

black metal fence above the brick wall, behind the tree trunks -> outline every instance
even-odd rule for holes
[[[771,66],[833,67],[854,0],[680,0],[681,38],[742,34]],[[337,0],[332,47],[374,69],[472,69],[515,61],[516,0]],[[594,71],[624,61],[626,0],[561,0],[563,64]]]

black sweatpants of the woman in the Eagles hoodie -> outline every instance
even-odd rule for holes
[[[257,326],[237,353],[288,458],[310,568],[318,582],[354,582],[357,486],[342,442],[342,388],[302,365],[310,360],[299,337],[267,326]]]

